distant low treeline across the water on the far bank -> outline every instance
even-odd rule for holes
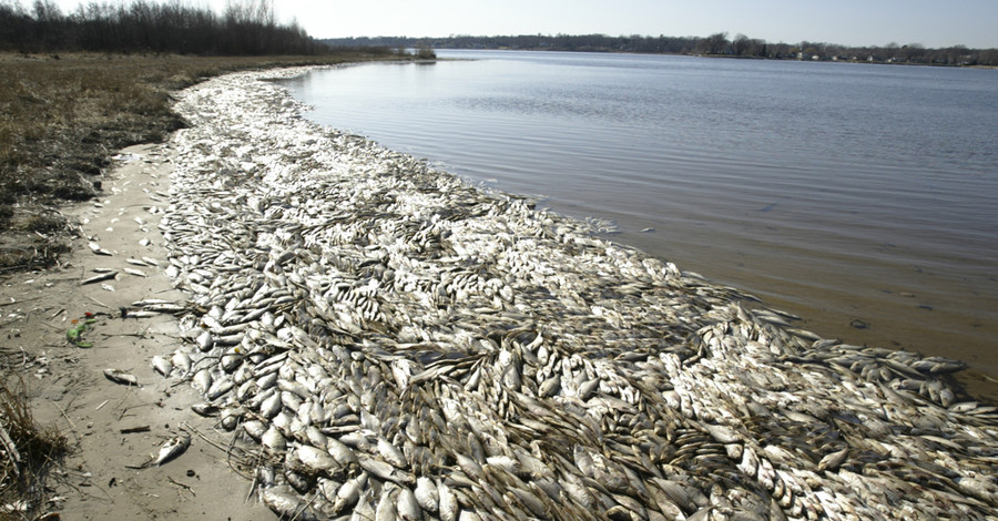
[[[652,54],[716,55],[771,60],[836,60],[878,63],[998,67],[998,49],[968,49],[954,45],[928,49],[918,43],[883,47],[848,47],[835,43],[773,43],[745,34],[729,38],[726,32],[709,37],[645,37],[605,34],[521,34],[508,37],[451,35],[447,38],[343,38],[320,40],[330,47],[384,45],[435,49],[515,49],[530,51],[640,52]]]

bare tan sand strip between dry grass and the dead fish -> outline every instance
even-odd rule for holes
[[[7,361],[22,376],[35,419],[54,425],[72,447],[64,469],[49,479],[54,490],[42,510],[68,520],[273,519],[255,501],[245,501],[249,481],[230,469],[228,438],[213,431],[213,421],[190,412],[194,390],[165,380],[150,365],[154,355],[184,343],[176,319],[121,317],[120,308],[133,302],[182,302],[184,295],[163,275],[166,254],[156,228],[160,208],[169,204],[169,145],[134,146],[119,157],[104,175],[99,200],[64,208],[82,223],[82,237],[61,268],[7,277],[2,285]],[[149,244],[140,244],[143,239]],[[92,253],[89,243],[112,255]],[[160,266],[125,262],[142,257]],[[119,275],[81,285],[99,268]],[[93,346],[77,347],[67,330],[88,313],[95,324],[84,338]],[[133,374],[140,385],[112,382],[103,375],[108,368]],[[129,468],[182,431],[194,436],[180,458],[157,468]]]

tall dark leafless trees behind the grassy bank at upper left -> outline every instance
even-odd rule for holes
[[[327,47],[297,23],[279,24],[273,0],[228,2],[216,14],[177,0],[86,2],[62,12],[50,0],[0,0],[0,50],[207,55],[315,54]]]

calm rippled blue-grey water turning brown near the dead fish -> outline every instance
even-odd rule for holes
[[[286,83],[319,123],[581,218],[998,398],[998,70],[438,51]]]

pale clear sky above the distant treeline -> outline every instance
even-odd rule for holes
[[[80,1],[57,3],[72,11]],[[221,11],[226,0],[187,3]],[[316,38],[723,31],[786,43],[998,48],[998,0],[275,0],[274,7],[281,21],[296,19]]]

